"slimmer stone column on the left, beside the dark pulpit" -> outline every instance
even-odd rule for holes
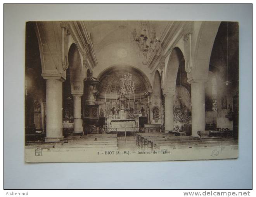
[[[74,132],[73,134],[83,132],[82,119],[81,119],[81,96],[82,94],[73,94],[73,98],[74,98]]]

